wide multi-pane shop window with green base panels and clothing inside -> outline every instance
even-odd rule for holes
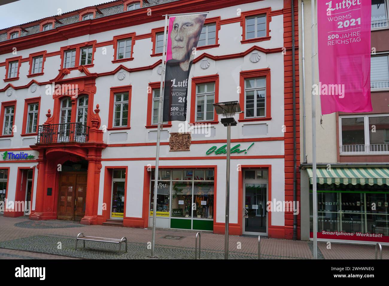
[[[169,219],[170,228],[213,230],[214,170],[159,170],[158,173],[156,216]],[[152,171],[150,217],[154,180]]]

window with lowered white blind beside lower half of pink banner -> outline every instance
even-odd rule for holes
[[[371,89],[389,88],[389,57],[372,56],[370,65]]]

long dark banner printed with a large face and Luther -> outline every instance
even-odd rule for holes
[[[188,78],[207,14],[169,18],[163,121],[186,121]]]

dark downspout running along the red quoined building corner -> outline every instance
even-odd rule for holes
[[[296,159],[296,70],[294,59],[294,0],[291,0],[292,9],[292,74],[293,74],[293,202],[297,206],[297,159]],[[293,240],[297,240],[297,215],[293,214]]]

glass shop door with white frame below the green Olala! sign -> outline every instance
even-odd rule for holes
[[[267,183],[244,182],[244,234],[267,235]]]

